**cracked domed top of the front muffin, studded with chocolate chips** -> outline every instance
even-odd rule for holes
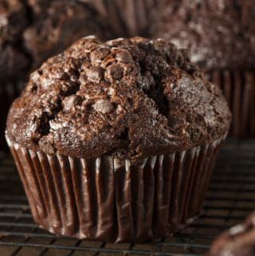
[[[48,154],[135,161],[209,144],[230,119],[186,50],[163,39],[83,37],[31,74],[6,132]]]

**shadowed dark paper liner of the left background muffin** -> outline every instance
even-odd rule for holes
[[[22,90],[22,83],[3,83],[0,85],[0,151],[6,150],[6,118],[10,105]]]

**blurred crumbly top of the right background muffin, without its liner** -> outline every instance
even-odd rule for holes
[[[254,69],[255,1],[167,0],[155,15],[152,37],[190,49],[206,69]]]

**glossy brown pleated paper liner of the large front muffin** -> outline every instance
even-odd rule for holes
[[[180,230],[199,214],[223,139],[136,165],[8,144],[42,228],[103,242],[143,242]]]

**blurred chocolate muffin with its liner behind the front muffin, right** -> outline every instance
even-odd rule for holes
[[[255,2],[168,0],[151,37],[191,51],[191,60],[223,89],[233,112],[232,136],[255,136]]]

